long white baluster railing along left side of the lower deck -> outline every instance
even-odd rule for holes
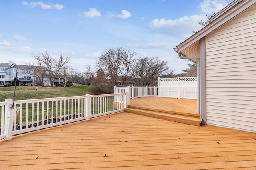
[[[0,140],[12,135],[63,125],[110,113],[127,107],[127,93],[58,97],[0,102]]]

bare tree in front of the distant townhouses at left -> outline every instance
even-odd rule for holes
[[[71,57],[68,55],[59,54],[58,58],[54,58],[53,55],[46,51],[42,52],[41,55],[33,55],[33,57],[38,61],[38,64],[46,67],[46,73],[49,77],[51,87],[54,86],[54,79],[67,63],[70,62]]]

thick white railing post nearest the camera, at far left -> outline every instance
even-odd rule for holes
[[[16,107],[12,108],[12,99],[5,99],[5,101],[7,102],[7,106],[5,107],[4,111],[5,140],[11,140]]]

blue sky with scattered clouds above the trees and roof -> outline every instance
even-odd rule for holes
[[[173,48],[202,27],[198,21],[232,0],[0,0],[0,63],[34,62],[33,54],[68,54],[85,71],[108,48],[168,61],[175,73],[188,61]]]

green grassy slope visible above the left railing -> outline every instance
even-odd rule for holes
[[[74,85],[71,87],[36,87],[18,86],[16,87],[15,100],[44,99],[52,97],[82,96],[89,93],[90,86]],[[5,99],[12,99],[14,87],[0,87],[0,102]]]

